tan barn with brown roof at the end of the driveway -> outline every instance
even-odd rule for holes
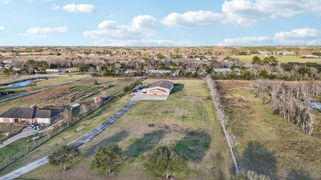
[[[159,80],[151,83],[146,88],[146,94],[148,95],[170,95],[173,90],[174,82],[168,80]]]

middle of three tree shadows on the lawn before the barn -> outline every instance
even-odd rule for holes
[[[132,139],[132,143],[124,150],[125,160],[132,158],[132,162],[135,158],[140,157],[144,152],[157,145],[165,135],[165,130],[153,130],[144,134],[141,138]],[[143,156],[141,156],[143,157]]]

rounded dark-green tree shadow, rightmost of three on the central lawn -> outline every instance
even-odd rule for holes
[[[210,148],[211,136],[204,130],[193,130],[178,141],[174,147],[181,153],[187,155],[195,162],[201,162],[206,151]]]

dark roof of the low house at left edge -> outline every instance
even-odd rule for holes
[[[39,109],[37,107],[13,107],[0,114],[0,117],[33,119],[35,117],[52,118],[58,114],[58,110]]]

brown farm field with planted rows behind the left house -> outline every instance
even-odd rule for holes
[[[95,95],[94,92],[98,92],[99,90],[103,89],[104,86],[106,87],[106,89],[104,90],[106,91],[106,94],[113,95],[133,81],[131,79],[124,80],[122,78],[109,77],[100,77],[96,79],[100,84],[93,85],[94,78],[85,78],[69,84],[40,91],[28,96],[20,97],[10,101],[0,102],[0,113],[3,113],[14,106],[29,107],[33,104],[36,104],[38,106],[63,106],[70,105],[70,103],[78,103],[81,101],[90,102],[92,101],[91,97]],[[109,85],[114,86],[109,87]],[[82,90],[85,90],[87,93],[82,93]],[[77,98],[73,98],[74,101],[70,102],[70,98],[76,97],[76,95]],[[83,98],[84,96],[87,97]]]

